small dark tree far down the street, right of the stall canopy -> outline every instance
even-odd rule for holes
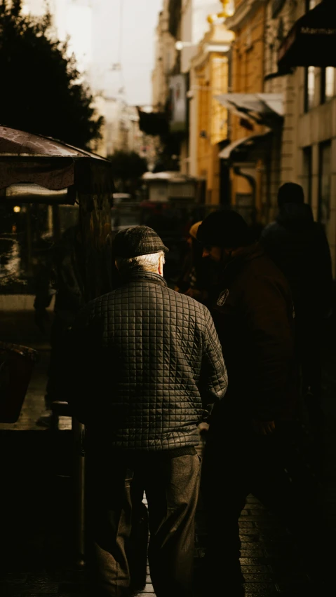
[[[134,192],[142,174],[147,172],[147,161],[135,151],[115,151],[109,156],[114,177],[121,191]]]

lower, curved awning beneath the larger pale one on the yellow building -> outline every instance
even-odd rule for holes
[[[267,130],[258,135],[236,139],[224,147],[218,157],[222,160],[230,160],[231,162],[258,160],[263,158],[265,151],[270,149],[271,136],[272,131]]]

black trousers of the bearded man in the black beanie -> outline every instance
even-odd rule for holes
[[[258,436],[248,423],[223,424],[210,433],[203,453],[201,492],[208,524],[206,564],[214,584],[240,581],[238,519],[252,493],[300,541],[314,561],[323,526],[317,509],[317,483],[297,451],[294,424],[278,424]]]

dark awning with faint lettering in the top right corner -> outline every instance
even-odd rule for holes
[[[295,22],[278,50],[278,70],[336,67],[335,0],[323,0]]]

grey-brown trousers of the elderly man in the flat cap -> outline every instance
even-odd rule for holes
[[[139,547],[142,553],[135,553],[132,534],[134,528],[137,533],[142,516],[144,490],[149,569],[156,596],[191,595],[199,457],[119,451],[103,460],[89,454],[88,460],[93,595],[123,597],[132,588],[131,562],[144,558],[144,547]]]

